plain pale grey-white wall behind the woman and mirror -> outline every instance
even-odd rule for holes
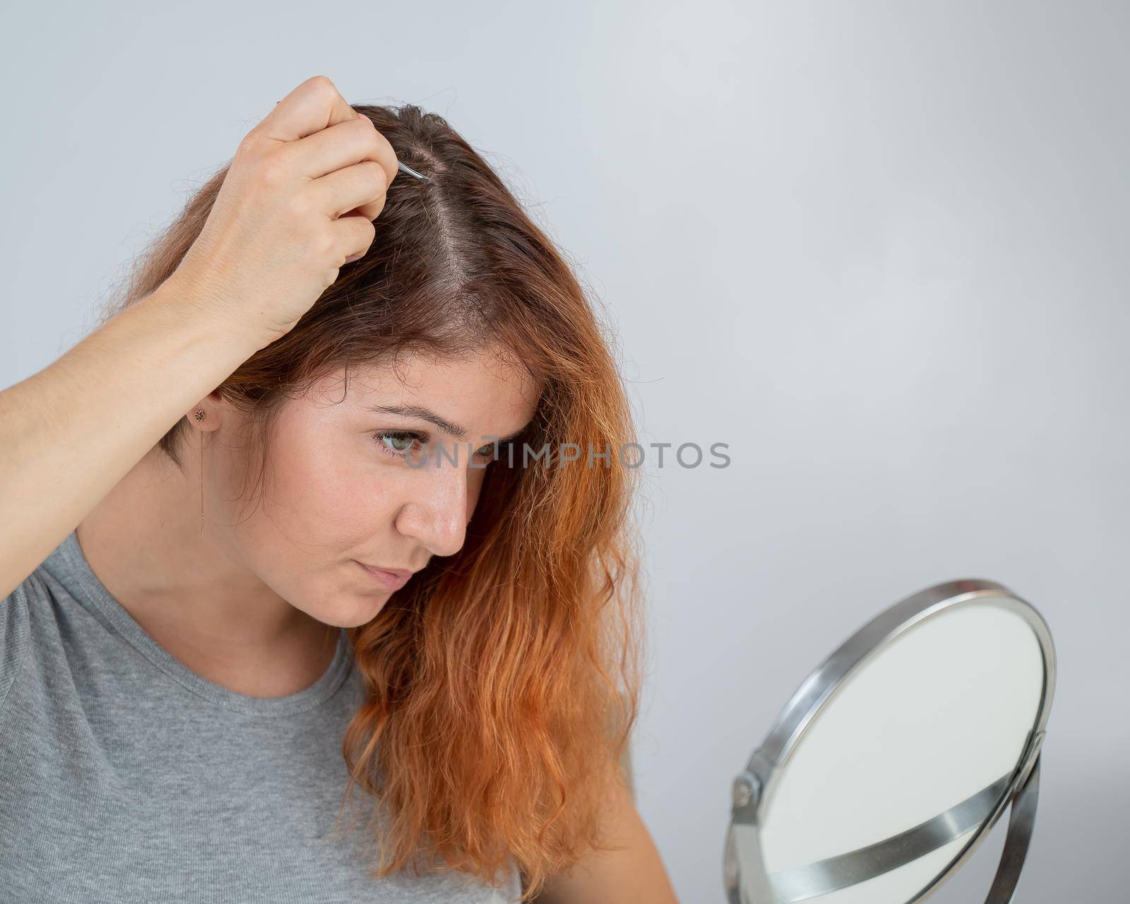
[[[646,481],[634,759],[685,904],[810,668],[972,576],[1060,657],[1018,897],[1120,899],[1128,45],[1078,0],[8,3],[0,385],[305,78],[444,114],[607,305],[645,440],[730,444]]]

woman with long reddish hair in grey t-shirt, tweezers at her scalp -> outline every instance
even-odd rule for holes
[[[108,314],[0,393],[0,887],[673,902],[629,408],[481,158],[308,79]]]

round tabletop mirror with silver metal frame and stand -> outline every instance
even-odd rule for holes
[[[986,897],[1007,904],[1054,683],[1044,619],[992,581],[880,614],[807,678],[734,780],[731,904],[923,901],[1011,803]]]

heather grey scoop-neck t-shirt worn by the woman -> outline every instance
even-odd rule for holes
[[[297,694],[214,684],[133,620],[72,531],[0,603],[0,898],[515,899],[513,862],[498,889],[451,870],[367,876],[368,809],[331,836],[348,777],[341,738],[362,699],[353,664],[342,629],[330,667]]]

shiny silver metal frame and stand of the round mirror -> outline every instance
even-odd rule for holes
[[[968,801],[936,819],[915,826],[895,838],[888,838],[834,861],[789,870],[800,873],[807,881],[796,883],[792,894],[782,896],[765,870],[760,850],[762,803],[767,800],[781,770],[807,725],[835,696],[836,690],[884,645],[920,621],[954,607],[988,602],[1020,616],[1036,635],[1044,659],[1044,686],[1035,724],[1011,775],[984,789]],[[730,827],[727,832],[722,861],[722,877],[730,904],[784,904],[784,902],[817,898],[837,888],[844,888],[881,875],[903,862],[936,850],[942,843],[959,837],[972,828],[962,827],[962,818],[975,819],[976,828],[962,850],[918,894],[905,904],[918,904],[930,897],[949,879],[988,836],[1005,809],[1011,805],[1008,834],[1001,861],[985,904],[1009,904],[1019,879],[1035,822],[1040,786],[1040,749],[1043,744],[1048,716],[1055,693],[1055,646],[1051,631],[1040,612],[1008,588],[994,581],[963,579],[948,581],[914,593],[880,612],[849,637],[816,670],[805,679],[749,763],[733,781]],[[964,809],[963,809],[964,808]],[[964,814],[964,816],[963,816]],[[746,837],[753,844],[740,849],[733,827],[748,828]],[[817,867],[819,869],[815,869]]]

